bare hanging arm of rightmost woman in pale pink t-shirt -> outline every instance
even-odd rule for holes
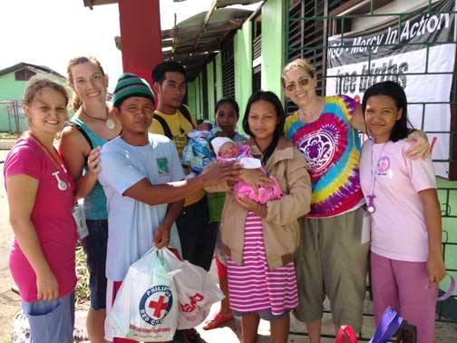
[[[428,235],[427,273],[429,287],[440,282],[446,276],[442,260],[442,218],[438,195],[433,188],[419,191],[423,203],[423,217]]]

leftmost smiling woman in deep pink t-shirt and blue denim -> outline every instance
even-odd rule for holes
[[[30,130],[5,160],[9,217],[15,232],[9,266],[32,342],[73,342],[76,285],[73,181],[53,140],[67,117],[62,85],[34,79],[24,94]]]

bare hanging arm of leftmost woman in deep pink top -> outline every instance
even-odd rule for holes
[[[9,220],[15,239],[36,274],[37,299],[53,301],[59,297],[59,285],[49,267],[30,215],[34,208],[38,181],[25,174],[6,178]]]

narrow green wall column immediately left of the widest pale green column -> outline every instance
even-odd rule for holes
[[[263,40],[263,39],[262,39]],[[252,93],[252,23],[246,22],[234,37],[235,99],[239,113],[244,113]],[[238,132],[243,132],[242,120],[238,121]]]

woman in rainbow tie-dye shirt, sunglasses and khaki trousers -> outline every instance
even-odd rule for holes
[[[360,139],[365,121],[360,104],[345,95],[316,95],[316,74],[305,59],[283,70],[284,93],[298,111],[287,117],[289,141],[303,153],[312,181],[311,211],[301,220],[296,270],[297,319],[306,322],[311,343],[320,341],[322,302],[330,299],[335,328],[362,328],[369,249],[368,215],[359,181]],[[428,152],[423,132],[411,156]]]

